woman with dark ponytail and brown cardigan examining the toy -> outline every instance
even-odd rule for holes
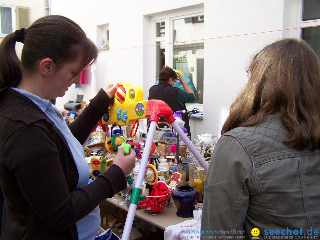
[[[16,42],[23,43],[21,60]],[[100,227],[98,205],[123,190],[135,152],[123,148],[89,184],[82,144],[108,112],[118,84],[106,84],[67,125],[49,99],[62,97],[98,49],[72,20],[50,15],[0,44],[1,239],[87,239]]]

